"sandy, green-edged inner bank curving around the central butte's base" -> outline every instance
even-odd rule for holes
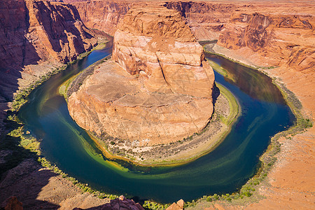
[[[59,86],[59,94],[63,95],[67,102],[67,97],[73,92],[73,86],[78,86],[76,83],[83,84],[85,78],[93,73],[94,69],[97,68],[97,65],[106,61],[107,59],[104,58],[97,62],[97,64],[92,64],[76,76],[66,80]],[[77,80],[79,80],[79,82]],[[218,86],[220,89],[219,91],[222,94],[217,96],[218,99],[216,99],[215,111],[208,125],[204,127],[204,130],[202,130],[200,134],[193,134],[192,136],[183,139],[183,141],[167,145],[163,144],[130,148],[125,145],[113,146],[91,132],[86,132],[90,135],[91,139],[93,139],[99,150],[102,151],[104,156],[109,160],[123,160],[127,165],[133,164],[142,167],[174,167],[193,162],[197,158],[213,151],[230,132],[232,124],[236,122],[237,117],[240,115],[241,108],[234,95],[228,91],[228,89],[223,87],[223,85]],[[78,88],[79,87],[76,87],[76,90],[78,90]],[[218,87],[215,86],[214,88]],[[69,91],[69,89],[71,89],[71,91]],[[221,116],[218,116],[218,113],[225,114],[224,116],[222,116],[222,114]],[[129,151],[132,151],[132,153]]]

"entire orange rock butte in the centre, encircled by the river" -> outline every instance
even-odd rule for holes
[[[135,146],[179,141],[200,132],[213,113],[214,71],[179,12],[131,9],[106,62],[69,97],[80,127]]]

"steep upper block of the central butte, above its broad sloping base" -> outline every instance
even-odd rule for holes
[[[174,10],[130,10],[115,33],[113,59],[132,75],[143,71],[151,92],[211,98],[213,71],[204,62],[202,46]]]

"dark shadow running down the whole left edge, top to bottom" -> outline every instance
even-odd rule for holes
[[[3,208],[8,197],[13,195],[23,203],[25,200],[36,203],[38,193],[48,183],[52,173],[36,171],[40,174],[46,173],[45,176],[41,175],[45,179],[41,179],[38,183],[25,180],[25,177],[32,172],[30,169],[40,166],[33,159],[28,159],[32,161],[31,165],[23,163],[19,165],[27,158],[34,158],[34,154],[19,146],[20,137],[7,135],[8,131],[20,126],[15,121],[3,119],[6,119],[6,111],[9,109],[8,102],[13,100],[13,93],[18,90],[22,67],[37,64],[40,57],[34,45],[26,37],[29,15],[25,2],[1,3],[0,11],[0,208]],[[15,18],[12,17],[12,12],[15,13]],[[32,192],[27,192],[25,197],[23,195],[25,190],[32,190]],[[42,205],[38,204],[38,209]]]

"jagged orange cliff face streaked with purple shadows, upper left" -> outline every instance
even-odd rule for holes
[[[92,48],[97,41],[94,33],[80,20],[78,10],[71,4],[47,1],[26,1],[29,11],[29,32],[31,41],[41,59],[56,59],[69,62],[77,55]]]

